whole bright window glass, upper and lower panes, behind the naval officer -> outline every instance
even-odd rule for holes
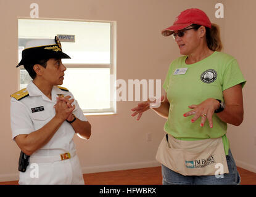
[[[65,71],[61,86],[73,93],[85,113],[114,110],[115,103],[110,100],[110,86],[113,86],[110,84],[110,70],[113,69],[110,60],[111,22],[18,19],[18,24],[19,61],[26,42],[31,39],[54,39],[57,34],[75,35],[75,42],[61,41],[63,51],[72,58],[62,59],[70,68]],[[107,66],[101,68],[102,63]],[[27,87],[30,81],[27,71],[20,68],[20,89]]]

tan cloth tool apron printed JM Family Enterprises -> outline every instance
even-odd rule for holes
[[[221,137],[184,141],[167,134],[159,145],[156,159],[182,175],[216,175],[220,167],[222,170],[217,174],[229,173]]]

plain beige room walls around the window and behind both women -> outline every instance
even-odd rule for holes
[[[250,4],[225,1],[225,18],[215,18],[213,0],[83,0],[83,1],[7,1],[0,0],[1,18],[1,163],[0,181],[15,180],[20,150],[11,140],[9,95],[17,91],[17,18],[30,17],[30,4],[39,4],[41,18],[68,18],[82,20],[117,21],[117,79],[163,79],[171,60],[180,54],[171,37],[164,38],[160,31],[173,23],[181,10],[197,7],[204,10],[213,23],[221,27],[225,52],[234,55],[247,79],[244,88],[245,121],[240,127],[229,127],[233,155],[239,164],[255,170],[253,155],[253,93],[254,76],[252,55],[254,31],[242,28]],[[70,5],[71,4],[71,5]],[[246,9],[234,14],[241,6]],[[254,13],[254,12],[252,12]],[[252,14],[252,18],[255,17]],[[233,20],[233,18],[236,20]],[[237,23],[237,20],[240,22]],[[239,24],[239,25],[238,25]],[[253,20],[252,20],[252,23]],[[234,31],[234,27],[236,31]],[[247,37],[248,36],[248,37]],[[249,40],[251,42],[249,42]],[[243,49],[243,50],[242,50]],[[244,50],[246,49],[246,50]],[[250,67],[249,67],[250,66]],[[248,69],[250,68],[250,70]],[[255,70],[255,69],[254,69]],[[92,124],[92,136],[88,141],[75,137],[75,143],[84,173],[114,171],[159,165],[155,153],[163,137],[165,119],[148,111],[141,121],[131,117],[131,108],[138,102],[117,102],[117,115],[88,116]],[[146,142],[146,134],[152,134],[152,142]],[[247,165],[247,166],[246,166]]]

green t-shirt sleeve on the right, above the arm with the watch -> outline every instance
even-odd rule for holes
[[[229,65],[226,67],[226,70],[223,74],[222,90],[224,91],[229,87],[236,86],[237,84],[241,84],[242,87],[244,87],[246,84],[246,79],[244,79],[236,59],[233,59],[231,63],[229,63]]]

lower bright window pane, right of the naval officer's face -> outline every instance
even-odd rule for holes
[[[81,109],[110,108],[110,68],[67,68],[64,78]]]

